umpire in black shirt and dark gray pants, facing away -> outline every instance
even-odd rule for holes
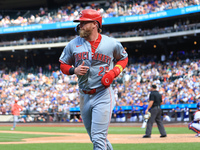
[[[146,128],[146,134],[143,136],[143,138],[150,138],[151,137],[151,130],[153,127],[154,121],[157,123],[158,129],[160,131],[161,136],[160,137],[166,137],[166,131],[163,126],[163,122],[161,120],[161,108],[160,104],[162,103],[162,95],[156,90],[157,86],[152,85],[151,86],[151,93],[149,96],[149,105],[145,111],[147,113],[150,109],[151,117],[149,118],[147,122],[147,128]]]

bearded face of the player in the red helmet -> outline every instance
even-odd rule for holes
[[[93,31],[94,21],[81,21],[80,22],[80,37],[88,38]]]

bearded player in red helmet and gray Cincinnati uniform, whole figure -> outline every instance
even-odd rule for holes
[[[108,126],[115,105],[110,84],[128,62],[120,42],[101,35],[102,16],[93,9],[81,11],[76,31],[60,56],[64,74],[78,77],[80,111],[94,150],[113,150],[107,139]]]

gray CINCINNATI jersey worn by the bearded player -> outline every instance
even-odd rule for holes
[[[90,90],[103,86],[101,78],[106,70],[114,67],[114,62],[125,59],[128,56],[120,42],[114,38],[102,35],[101,42],[92,58],[91,45],[84,38],[76,37],[64,48],[60,60],[74,67],[82,61],[90,69],[83,76],[78,76],[79,87],[82,90]]]

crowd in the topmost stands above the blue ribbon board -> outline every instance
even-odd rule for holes
[[[103,18],[148,14],[168,9],[176,9],[191,5],[199,5],[199,0],[123,0],[123,1],[105,1],[102,3],[79,3],[67,4],[58,8],[56,12],[48,8],[40,8],[37,13],[28,13],[27,17],[19,15],[17,18],[0,15],[0,27],[9,27],[14,25],[26,26],[30,24],[48,24],[54,22],[66,22],[76,19],[79,12],[83,9],[92,8],[98,10]],[[20,14],[18,12],[18,14]]]

